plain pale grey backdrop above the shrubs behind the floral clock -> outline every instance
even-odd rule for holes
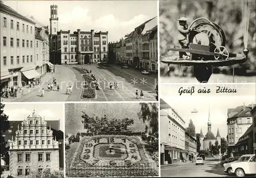
[[[137,113],[140,112],[139,103],[67,103],[65,105],[65,125],[66,133],[76,134],[84,132],[82,124],[82,111],[88,116],[134,120],[134,124],[128,127],[133,132],[144,132],[145,124],[139,119]]]

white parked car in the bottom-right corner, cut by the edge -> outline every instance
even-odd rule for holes
[[[245,154],[238,162],[231,163],[231,173],[235,173],[238,177],[256,174],[256,158],[255,154]]]

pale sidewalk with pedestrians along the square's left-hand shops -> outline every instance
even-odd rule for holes
[[[46,73],[44,76],[41,77],[41,83],[39,85],[35,85],[35,87],[30,87],[30,88],[29,88],[29,85],[23,86],[23,95],[22,95],[22,93],[19,93],[19,88],[18,88],[16,98],[13,98],[10,96],[9,96],[9,98],[1,97],[1,102],[14,102],[16,99],[18,99],[22,96],[25,96],[30,92],[33,92],[34,90],[41,87],[45,83],[49,82],[54,77],[54,75],[55,74],[52,74],[52,73]]]

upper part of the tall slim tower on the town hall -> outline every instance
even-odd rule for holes
[[[57,35],[58,31],[58,6],[51,5],[51,18],[50,18],[50,35]]]

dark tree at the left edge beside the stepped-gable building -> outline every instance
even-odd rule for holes
[[[5,141],[4,134],[6,130],[10,128],[10,123],[8,121],[8,116],[4,114],[4,107],[5,105],[0,103],[0,114],[1,114],[1,138],[0,138],[0,144],[1,144],[1,158],[8,164],[9,163],[9,146],[6,147],[7,142]]]

